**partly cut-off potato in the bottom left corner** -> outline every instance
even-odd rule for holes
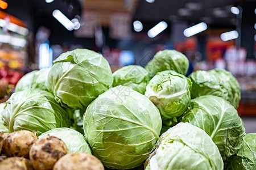
[[[11,157],[0,163],[0,169],[5,170],[32,170],[30,160],[22,157]]]

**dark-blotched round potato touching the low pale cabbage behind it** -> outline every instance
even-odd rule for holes
[[[61,139],[47,135],[36,141],[30,148],[30,160],[35,169],[52,169],[53,165],[68,153]]]

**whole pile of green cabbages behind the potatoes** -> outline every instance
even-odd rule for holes
[[[255,133],[236,108],[226,70],[195,71],[176,50],[112,74],[99,53],[76,49],[19,80],[0,104],[0,131],[54,135],[106,169],[256,169]]]

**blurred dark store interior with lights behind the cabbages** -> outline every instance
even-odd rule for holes
[[[255,0],[0,0],[0,87],[76,48],[102,53],[112,71],[163,49],[184,53],[189,73],[226,69],[242,89],[246,132],[256,132]]]

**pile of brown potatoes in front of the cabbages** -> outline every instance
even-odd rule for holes
[[[27,130],[0,133],[0,169],[104,169],[95,156],[81,153],[68,154],[61,139],[47,135],[38,137]]]

